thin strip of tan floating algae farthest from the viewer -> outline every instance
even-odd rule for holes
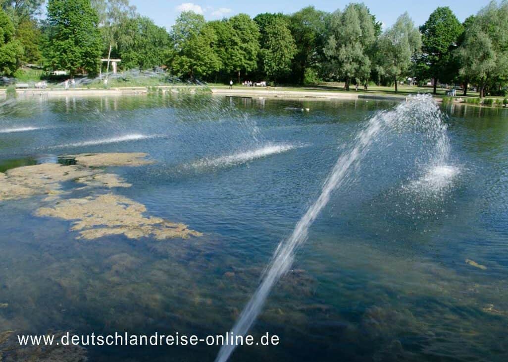
[[[80,154],[66,156],[72,158],[79,165],[88,167],[104,167],[104,166],[143,166],[154,163],[146,157],[148,154],[141,152],[131,153],[100,153],[100,154]]]

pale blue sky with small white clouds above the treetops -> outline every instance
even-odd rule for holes
[[[303,7],[313,5],[316,9],[334,11],[343,9],[351,1],[323,1],[323,0],[131,0],[131,4],[138,8],[141,15],[152,18],[157,25],[165,26],[168,30],[173,25],[180,10],[194,10],[202,13],[207,20],[221,19],[238,13],[256,16],[259,13],[294,13]],[[471,14],[476,14],[490,0],[365,0],[363,3],[370,8],[376,18],[390,26],[397,17],[407,11],[417,25],[427,20],[429,14],[438,6],[449,6],[463,21]]]

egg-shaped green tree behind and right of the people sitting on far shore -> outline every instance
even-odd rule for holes
[[[271,79],[290,72],[296,54],[295,40],[287,24],[284,18],[273,17],[263,28],[263,70]]]

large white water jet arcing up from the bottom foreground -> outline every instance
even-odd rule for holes
[[[355,138],[351,148],[339,157],[325,180],[320,196],[298,221],[291,236],[283,239],[278,245],[265,270],[260,286],[248,301],[231,330],[234,336],[243,336],[247,333],[260,314],[273,286],[290,269],[296,250],[307,239],[310,225],[328,203],[332,192],[347,179],[352,170],[360,165],[361,160],[369,151],[370,145],[380,133],[407,127],[426,132],[427,137],[433,140],[435,149],[431,151],[432,160],[425,167],[448,167],[446,162],[450,153],[450,145],[446,127],[441,118],[441,112],[432,98],[421,95],[410,97],[391,111],[378,112],[370,119],[367,126]],[[441,178],[438,179],[440,184],[442,184]],[[432,188],[432,185],[429,187]],[[228,360],[235,347],[235,345],[222,346],[215,361],[225,362]]]

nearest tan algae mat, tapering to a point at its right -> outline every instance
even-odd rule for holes
[[[132,239],[152,236],[157,240],[201,236],[186,225],[146,217],[146,207],[129,198],[106,194],[79,199],[61,200],[53,207],[41,207],[36,215],[73,221],[71,230],[79,231],[80,239],[120,235]]]

